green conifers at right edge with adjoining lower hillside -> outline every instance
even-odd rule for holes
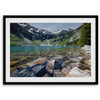
[[[79,33],[80,35],[72,36],[67,41],[66,45],[71,46],[84,46],[84,45],[91,45],[91,24],[84,23],[81,27],[77,28],[75,33]],[[75,34],[74,34],[75,35]],[[70,40],[72,41],[70,42]]]

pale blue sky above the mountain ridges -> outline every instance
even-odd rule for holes
[[[29,23],[31,26],[34,26],[39,29],[45,29],[48,31],[57,31],[64,29],[75,29],[82,25],[82,23]]]

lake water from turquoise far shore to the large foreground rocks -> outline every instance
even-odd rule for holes
[[[69,55],[80,55],[78,46],[11,46],[10,47],[10,72],[27,66],[27,63],[38,58],[47,60],[63,58]]]

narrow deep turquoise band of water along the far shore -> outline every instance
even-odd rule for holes
[[[79,46],[11,46],[11,53],[20,52],[42,52],[42,51],[52,51],[52,50],[76,50]]]

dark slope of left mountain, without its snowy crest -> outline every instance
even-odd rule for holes
[[[17,23],[11,23],[10,24],[10,33],[20,37],[20,38],[27,38],[31,41],[34,40],[41,40],[44,41],[46,39],[51,39],[56,37],[54,34],[48,34],[48,33],[42,33],[42,32],[36,32],[36,31],[32,31],[29,32],[29,28],[31,28],[30,26],[27,27],[23,27],[18,25]]]

